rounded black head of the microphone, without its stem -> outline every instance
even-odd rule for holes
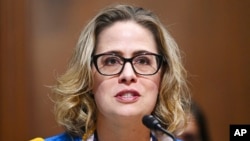
[[[142,118],[142,123],[151,130],[157,130],[160,122],[152,115],[145,115]]]

